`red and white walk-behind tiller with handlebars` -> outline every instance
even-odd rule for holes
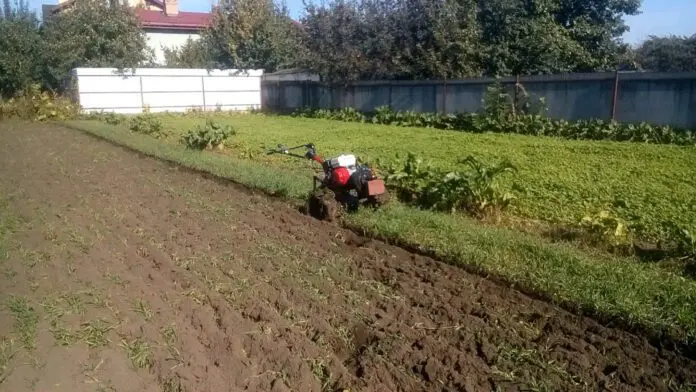
[[[304,154],[292,151],[304,149]],[[372,169],[358,162],[353,154],[341,154],[324,160],[314,144],[286,147],[282,144],[269,154],[284,154],[309,159],[321,165],[322,172],[313,178],[312,191],[307,198],[306,211],[320,220],[334,220],[341,208],[348,211],[359,206],[379,207],[387,201],[384,180],[377,178]]]

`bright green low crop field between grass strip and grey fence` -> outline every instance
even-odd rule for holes
[[[203,120],[162,116],[176,142]],[[646,237],[658,234],[663,220],[696,222],[696,148],[611,141],[571,141],[524,135],[471,134],[424,128],[344,123],[281,116],[218,116],[237,135],[230,141],[242,153],[260,153],[278,143],[316,144],[320,154],[346,151],[368,162],[388,161],[412,152],[433,165],[453,168],[469,154],[486,162],[509,158],[519,172],[503,180],[525,194],[512,206],[515,215],[558,223],[577,223],[589,213],[616,206],[625,217],[639,217]],[[398,141],[398,143],[395,143]],[[262,162],[306,173],[309,162],[273,157]],[[622,207],[625,205],[625,207]]]

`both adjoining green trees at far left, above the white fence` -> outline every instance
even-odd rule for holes
[[[26,2],[9,1],[0,13],[0,95],[10,98],[32,84],[64,92],[75,67],[131,68],[151,62],[145,32],[132,8],[118,2],[71,2],[38,18]]]

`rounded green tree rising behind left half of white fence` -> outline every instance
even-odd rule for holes
[[[128,6],[81,0],[44,25],[45,80],[58,88],[75,67],[134,68],[152,61],[144,31]]]

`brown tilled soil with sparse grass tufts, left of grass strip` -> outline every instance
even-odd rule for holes
[[[75,131],[3,128],[0,390],[696,381],[696,363],[638,337],[281,202]]]

